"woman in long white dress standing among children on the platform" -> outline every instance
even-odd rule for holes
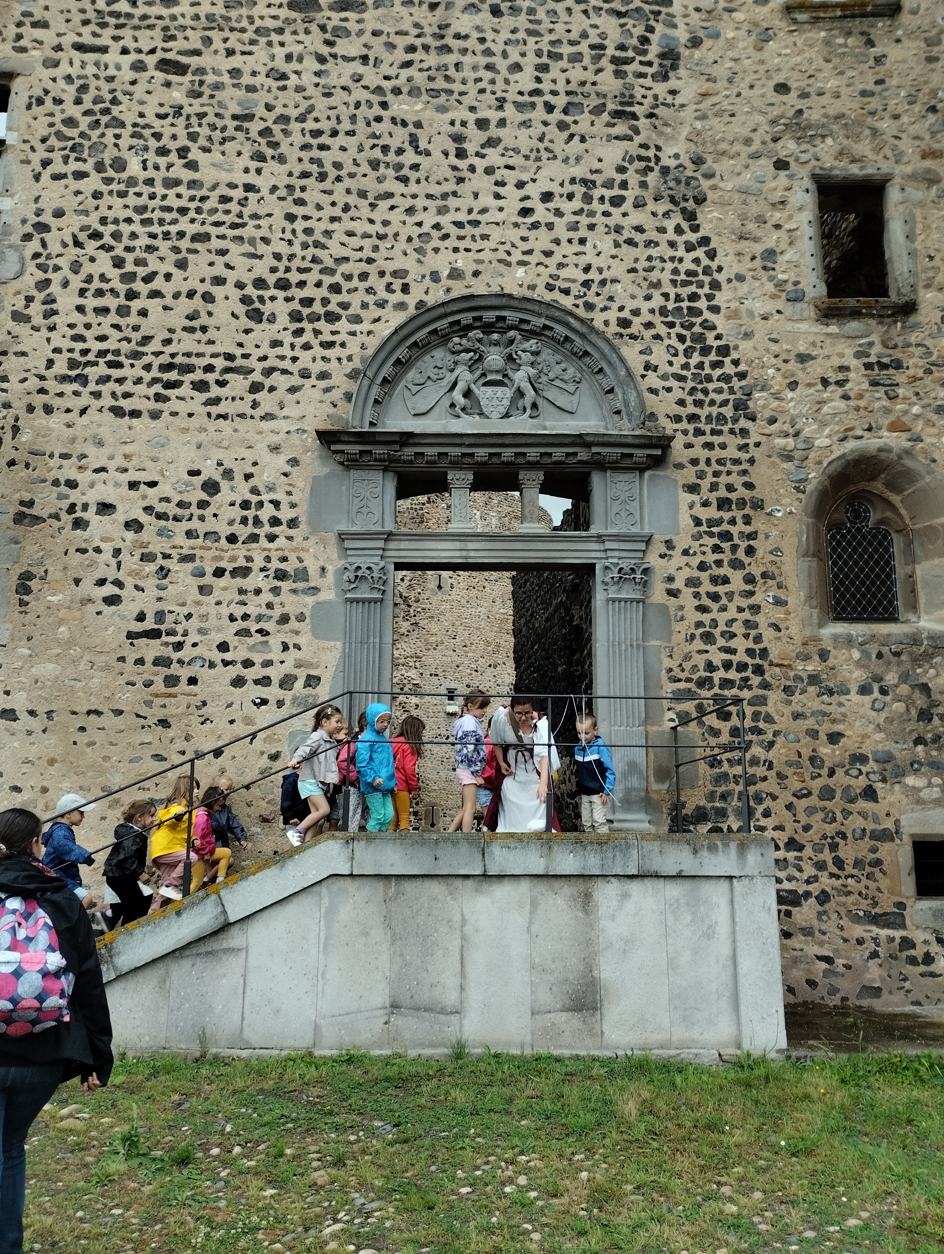
[[[545,716],[534,698],[514,696],[491,716],[489,740],[501,774],[494,831],[544,831],[550,775],[559,769]],[[491,813],[489,814],[491,818]]]

